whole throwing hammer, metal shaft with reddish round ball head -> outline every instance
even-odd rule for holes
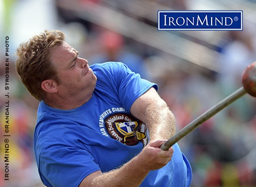
[[[226,106],[230,105],[246,93],[250,94],[253,97],[256,97],[256,61],[250,64],[243,71],[242,84],[243,86],[240,89],[236,90],[236,92],[230,94],[228,97],[217,103],[217,105],[213,106],[205,113],[197,117],[195,120],[193,120],[191,123],[187,124],[187,126],[178,131],[174,136],[172,136],[172,138],[168,139],[167,142],[164,143],[160,148],[163,150],[168,150],[181,138],[189,134],[189,132],[195,130],[195,128],[199,127],[206,120],[213,117],[213,115],[217,114],[219,111],[221,111]]]

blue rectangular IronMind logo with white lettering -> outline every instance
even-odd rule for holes
[[[158,30],[243,30],[243,11],[158,11]]]

